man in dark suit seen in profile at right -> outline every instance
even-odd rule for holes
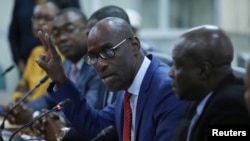
[[[179,99],[192,101],[175,141],[208,140],[210,126],[250,124],[243,81],[232,73],[233,46],[220,28],[188,30],[177,39],[172,56],[173,90]]]

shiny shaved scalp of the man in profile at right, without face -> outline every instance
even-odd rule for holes
[[[230,65],[233,60],[233,46],[225,33],[216,26],[203,25],[181,35],[177,44],[183,46],[194,60],[207,60],[212,65]]]

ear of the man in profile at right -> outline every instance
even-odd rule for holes
[[[212,72],[212,65],[208,61],[199,64],[199,75],[202,80],[208,79]]]

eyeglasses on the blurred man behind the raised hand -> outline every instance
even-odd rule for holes
[[[58,39],[61,35],[70,35],[72,33],[77,33],[85,28],[86,28],[86,26],[76,27],[74,25],[69,25],[64,29],[53,30],[52,31],[52,39]]]

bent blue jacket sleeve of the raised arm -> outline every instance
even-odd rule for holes
[[[51,83],[48,88],[48,92],[54,100],[60,102],[67,98],[71,99],[72,102],[65,106],[63,111],[76,130],[84,137],[83,140],[89,140],[103,128],[114,125],[114,105],[98,111],[87,103],[86,99],[82,97],[82,94],[70,80],[56,92],[53,92],[54,86],[54,83]]]

